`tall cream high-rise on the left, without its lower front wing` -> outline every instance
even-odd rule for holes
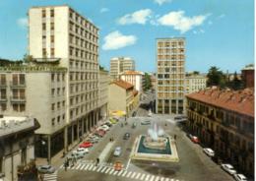
[[[58,148],[58,151],[67,151],[96,125],[100,114],[98,29],[69,6],[32,7],[29,11],[29,54],[37,61],[67,69],[64,148]],[[56,58],[58,63],[54,61]],[[45,102],[49,108],[53,106],[51,101]],[[38,139],[46,143],[41,147],[48,145],[48,158],[55,153],[49,152],[54,145],[51,137],[59,131],[50,135],[47,130],[38,132]],[[45,138],[48,139],[45,141]],[[37,156],[44,155],[37,152]]]

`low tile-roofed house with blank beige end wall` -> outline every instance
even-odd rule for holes
[[[134,98],[138,91],[134,91],[134,86],[122,80],[114,81],[109,85],[109,112],[124,111],[129,115],[136,107]]]

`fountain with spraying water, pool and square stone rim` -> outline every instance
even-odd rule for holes
[[[175,141],[154,123],[148,135],[140,135],[131,152],[132,159],[178,161]]]

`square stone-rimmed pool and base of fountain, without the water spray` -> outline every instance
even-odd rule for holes
[[[156,142],[150,142],[151,144],[149,146],[147,144],[146,145],[144,144],[145,142],[147,143],[147,136],[140,135],[135,140],[130,157],[132,159],[141,159],[141,160],[178,162],[179,158],[178,158],[174,139],[169,136],[160,137],[160,139],[162,141],[161,146],[158,145],[158,143]],[[164,145],[162,143],[165,143],[164,148],[163,148]]]

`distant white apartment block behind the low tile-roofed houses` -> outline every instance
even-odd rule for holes
[[[110,77],[112,80],[119,79],[122,72],[135,71],[135,62],[130,57],[113,57],[110,60]]]

